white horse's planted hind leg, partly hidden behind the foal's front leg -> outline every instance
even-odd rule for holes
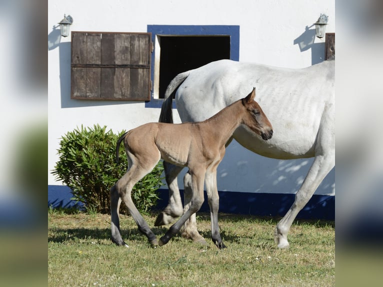
[[[189,209],[190,207],[190,201],[191,196],[193,194],[192,187],[191,187],[191,175],[189,171],[185,173],[183,176],[183,201],[184,201],[184,212]],[[183,238],[191,239],[196,243],[200,244],[206,244],[205,238],[202,237],[201,234],[199,234],[197,230],[197,221],[195,218],[195,213],[191,214],[188,219],[186,219],[185,223],[183,224],[181,228],[181,236]]]

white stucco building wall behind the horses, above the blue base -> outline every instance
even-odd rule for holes
[[[160,111],[145,108],[144,102],[70,99],[70,36],[60,38],[59,28],[53,28],[64,13],[73,17],[70,28],[76,31],[146,32],[148,24],[239,25],[239,60],[294,68],[324,55],[324,38],[311,43],[305,37],[305,27],[320,13],[329,17],[326,32],[335,32],[332,0],[48,0],[48,185],[61,184],[50,171],[65,132],[96,123],[116,132],[157,121]],[[234,142],[218,167],[218,189],[295,192],[311,162],[267,159]],[[333,192],[334,170],[316,193]]]

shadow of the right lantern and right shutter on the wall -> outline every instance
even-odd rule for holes
[[[315,28],[310,29],[311,26],[306,26],[304,32],[294,39],[294,45],[297,44],[301,52],[311,49],[311,65],[320,63],[324,60],[325,55],[325,43],[314,43],[315,40]]]

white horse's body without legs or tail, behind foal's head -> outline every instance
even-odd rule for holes
[[[334,103],[334,61],[290,69],[219,60],[191,70],[178,87],[176,104],[182,121],[200,121],[256,87],[256,100],[274,127],[263,142],[239,128],[234,138],[272,158],[315,156],[315,140],[325,107]],[[330,115],[334,121],[334,114]],[[331,125],[333,128],[333,124]]]

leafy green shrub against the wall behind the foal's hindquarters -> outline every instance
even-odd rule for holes
[[[105,130],[106,126],[98,124],[93,128],[81,125],[81,129],[62,136],[57,149],[59,160],[52,174],[72,189],[73,199],[83,202],[87,210],[109,213],[110,187],[126,172],[127,158],[121,144],[119,163],[115,163],[117,139],[125,131],[114,134]],[[156,190],[162,185],[162,171],[162,162],[158,162],[151,173],[133,187],[131,197],[141,212],[155,206],[158,199]]]

